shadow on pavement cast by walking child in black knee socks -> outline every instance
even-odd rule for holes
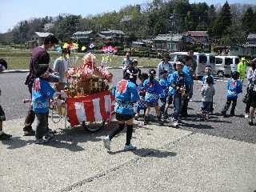
[[[177,153],[169,152],[169,151],[162,151],[162,150],[154,150],[148,148],[142,148],[137,150],[118,150],[118,151],[108,151],[108,154],[120,154],[126,152],[132,152],[139,157],[154,157],[154,158],[167,158],[167,157],[174,157]]]

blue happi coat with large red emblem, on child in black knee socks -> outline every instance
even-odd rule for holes
[[[122,79],[114,89],[115,107],[118,114],[134,115],[134,103],[138,101],[138,90],[134,82]]]

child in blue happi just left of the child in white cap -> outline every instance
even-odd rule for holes
[[[169,95],[169,86],[170,83],[168,82],[168,70],[163,70],[161,73],[161,78],[160,78],[160,86],[162,86],[162,94],[160,94],[160,113],[163,118],[168,118],[168,113],[167,110],[172,103],[172,95]]]

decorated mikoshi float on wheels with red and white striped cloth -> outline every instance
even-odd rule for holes
[[[66,102],[56,110],[70,126],[82,124],[87,130],[96,131],[101,127],[92,128],[86,122],[102,122],[104,126],[114,119],[114,95],[110,91],[113,74],[106,66],[96,64],[94,54],[86,54],[82,66],[70,68],[66,76]]]

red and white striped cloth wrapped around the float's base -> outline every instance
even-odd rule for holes
[[[101,122],[114,118],[114,96],[110,91],[67,98],[67,116],[71,126],[81,122]]]

